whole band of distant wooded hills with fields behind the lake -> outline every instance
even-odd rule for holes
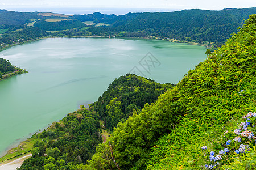
[[[72,36],[142,37],[201,43],[216,48],[232,33],[237,33],[237,28],[242,26],[243,21],[255,13],[256,8],[143,12],[119,16],[100,12],[85,15],[42,15],[39,12],[1,10],[0,34],[5,37],[5,44],[1,48],[19,44],[24,39],[20,39],[24,36],[20,29],[32,28],[35,29],[33,36],[28,35],[29,40],[35,37]]]

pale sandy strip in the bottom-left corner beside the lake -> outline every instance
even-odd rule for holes
[[[0,164],[0,170],[16,170],[16,168],[19,168],[22,165],[22,162],[30,156],[32,156],[32,154],[27,154],[15,160],[11,160],[8,163]]]

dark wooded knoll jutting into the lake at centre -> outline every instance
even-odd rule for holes
[[[172,84],[160,84],[127,74],[115,79],[98,101],[90,106],[104,120],[105,128],[112,131],[118,122],[124,122],[134,111],[140,110],[146,103],[152,103],[172,87]]]

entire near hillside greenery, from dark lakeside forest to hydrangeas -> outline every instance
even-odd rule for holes
[[[254,169],[255,31],[256,14],[176,86],[131,74],[114,80],[89,109],[38,134],[51,140],[38,143],[20,169]],[[160,89],[167,91],[144,107],[131,100],[148,102],[147,92]],[[145,95],[134,94],[138,90]],[[114,118],[110,130],[119,123],[101,143],[98,121],[108,123],[108,117]]]

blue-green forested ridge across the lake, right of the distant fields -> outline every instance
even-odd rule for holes
[[[110,20],[109,27],[91,27],[90,32],[118,37],[159,37],[188,42],[221,45],[236,33],[243,19],[255,14],[256,8],[221,11],[183,10],[175,12],[126,14]]]

